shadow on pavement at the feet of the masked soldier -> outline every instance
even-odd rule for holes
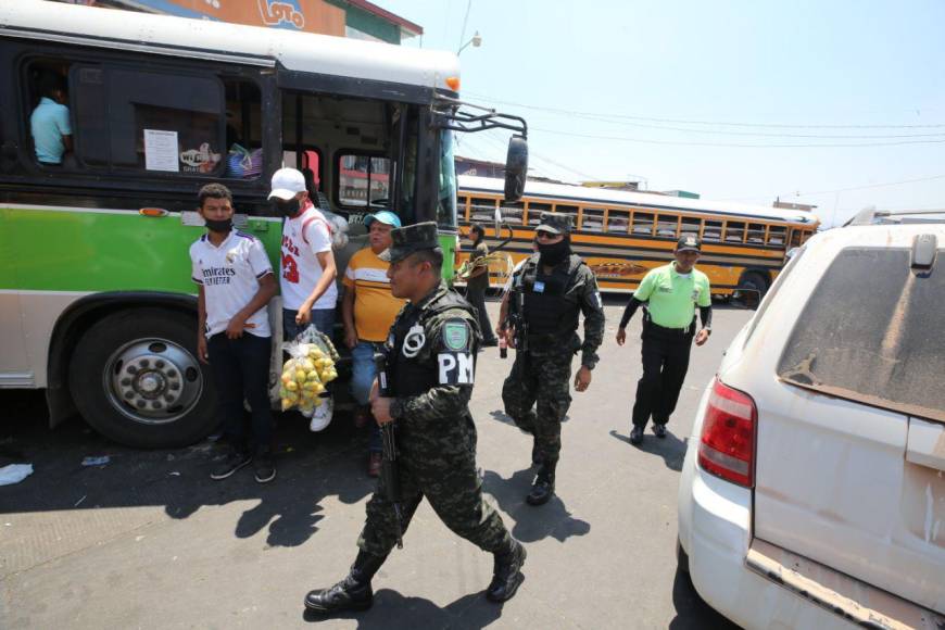
[[[525,502],[534,475],[534,470],[530,468],[519,470],[509,479],[503,479],[493,470],[487,470],[483,475],[484,490],[495,497],[502,511],[515,521],[512,536],[521,542],[537,542],[549,537],[564,542],[572,536],[590,532],[591,525],[572,517],[557,494],[544,505],[532,506]]]

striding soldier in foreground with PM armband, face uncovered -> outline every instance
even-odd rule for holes
[[[525,547],[483,500],[476,468],[476,427],[468,407],[479,344],[476,312],[440,279],[437,224],[394,229],[391,238],[393,245],[381,254],[391,262],[391,292],[410,303],[391,327],[379,375],[383,391],[375,382],[371,412],[378,424],[396,423],[402,521],[381,476],[367,503],[351,572],[305,597],[308,609],[323,614],[370,607],[370,580],[425,496],[446,527],[495,556],[489,600],[511,598],[522,581]]]

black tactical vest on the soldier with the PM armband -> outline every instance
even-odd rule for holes
[[[432,348],[432,340],[429,339],[429,320],[436,315],[449,311],[451,308],[459,308],[470,315],[466,323],[472,330],[474,343],[471,352],[476,352],[479,346],[479,326],[476,324],[476,313],[472,306],[464,300],[455,291],[448,290],[439,298],[434,298],[425,308],[415,308],[407,316],[401,316],[394,322],[391,328],[393,337],[392,345],[389,344],[387,373],[391,381],[393,396],[412,396],[418,395],[437,387],[439,383],[439,363]],[[413,356],[404,354],[404,342],[411,336],[411,329],[414,326],[420,325],[424,328],[424,342],[413,354],[412,349],[407,352]],[[415,336],[413,342],[418,339]]]

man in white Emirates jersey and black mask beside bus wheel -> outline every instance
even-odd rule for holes
[[[234,229],[229,189],[207,184],[198,201],[206,234],[190,245],[192,278],[200,287],[197,354],[210,364],[228,445],[211,477],[226,479],[255,458],[256,481],[265,483],[276,477],[268,395],[273,340],[266,313],[276,279],[263,244]],[[249,430],[243,400],[251,408]]]

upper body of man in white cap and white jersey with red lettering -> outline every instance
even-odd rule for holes
[[[272,184],[269,201],[285,218],[279,280],[285,338],[293,339],[310,324],[331,336],[338,301],[331,228],[308,199],[300,171],[279,168]]]

